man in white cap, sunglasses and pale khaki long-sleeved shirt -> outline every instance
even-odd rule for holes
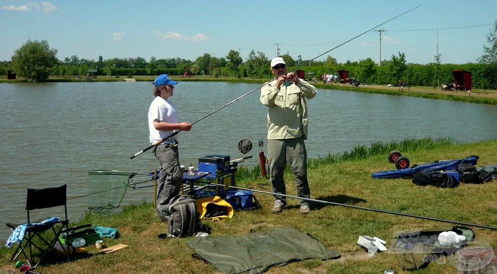
[[[281,57],[271,60],[274,80],[262,86],[260,102],[267,111],[267,153],[274,194],[273,213],[279,213],[286,205],[286,187],[283,172],[287,161],[293,172],[299,197],[311,198],[307,180],[307,105],[305,98],[316,96],[316,88],[299,79],[293,72],[286,72]],[[280,195],[278,195],[280,194]],[[309,202],[300,200],[300,213],[310,211]]]

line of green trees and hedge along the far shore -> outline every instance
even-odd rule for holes
[[[435,56],[434,62],[430,64],[408,64],[406,55],[401,52],[392,55],[390,60],[382,61],[381,67],[371,58],[337,63],[330,55],[322,61],[299,59],[296,62],[288,53],[281,57],[289,70],[312,72],[318,79],[325,73],[336,74],[338,70],[346,70],[350,78],[361,81],[361,84],[397,85],[400,81],[405,81],[410,86],[439,87],[442,83],[453,82],[451,70],[465,70],[472,73],[474,88],[497,90],[497,20],[487,35],[487,42],[489,45],[484,45],[485,54],[478,58],[477,63],[467,64],[441,64],[440,55]],[[116,77],[155,76],[165,73],[173,76],[186,73],[253,79],[272,77],[270,58],[254,50],[250,51],[246,60],[235,50],[230,50],[226,58],[217,58],[205,53],[195,61],[179,57],[157,59],[154,56],[149,61],[142,57],[104,60],[99,56],[98,61],[95,61],[79,59],[76,55],[58,60],[56,56],[57,50],[51,49],[47,41],[28,40],[15,50],[11,61],[0,62],[0,75],[6,75],[7,71],[13,70],[17,76],[29,82],[42,82],[49,77],[82,77],[90,69],[96,70],[95,75]]]

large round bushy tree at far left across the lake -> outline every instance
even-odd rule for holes
[[[29,82],[47,80],[51,69],[59,62],[57,50],[50,49],[46,40],[28,40],[12,56],[12,67],[19,77]]]

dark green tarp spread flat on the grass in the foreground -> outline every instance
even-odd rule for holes
[[[261,273],[293,261],[340,258],[318,240],[292,227],[242,236],[193,237],[187,244],[222,273]]]

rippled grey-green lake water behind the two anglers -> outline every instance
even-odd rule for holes
[[[238,142],[244,138],[253,143],[246,154],[253,158],[243,164],[258,164],[257,141],[266,140],[267,113],[258,87],[218,82],[175,87],[171,100],[180,120],[198,121],[178,134],[183,165],[198,166],[198,158],[209,154],[241,158]],[[67,183],[70,217],[77,219],[88,206],[84,195],[99,190],[88,189],[88,171],[159,169],[151,150],[130,159],[149,146],[152,89],[150,82],[0,84],[0,222],[25,219],[28,187]],[[497,124],[495,105],[332,90],[318,90],[308,105],[310,158],[378,140],[473,142],[497,136],[497,127],[489,126]],[[152,187],[130,189],[123,204],[153,197]],[[8,235],[7,228],[0,230],[0,241]]]

